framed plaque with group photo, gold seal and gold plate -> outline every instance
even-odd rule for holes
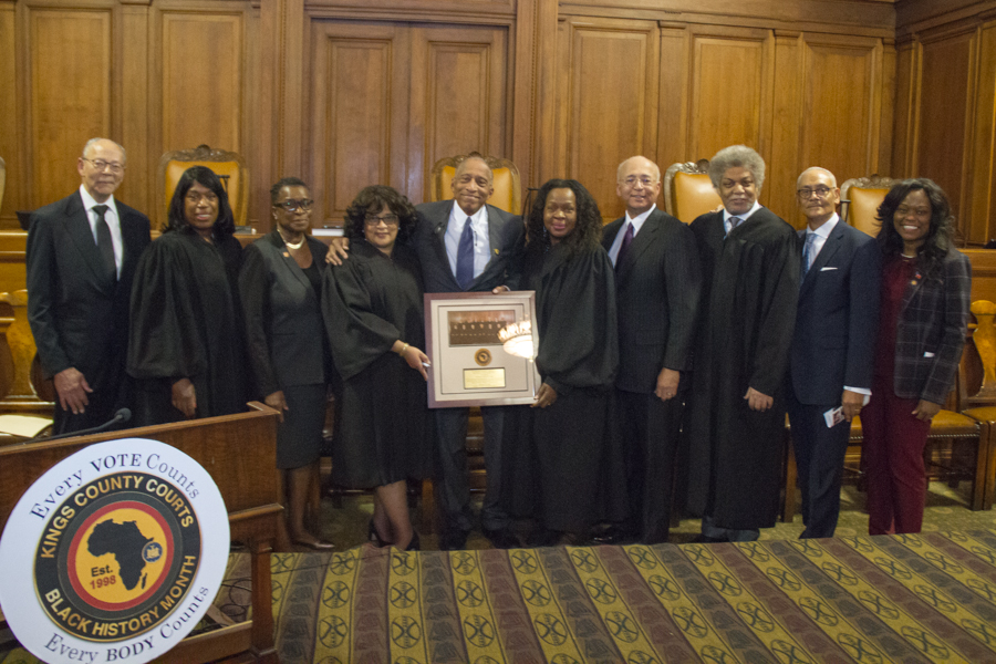
[[[429,408],[531,404],[540,386],[532,321],[533,291],[426,293]]]

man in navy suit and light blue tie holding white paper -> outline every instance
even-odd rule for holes
[[[802,489],[801,537],[833,537],[851,418],[871,394],[880,251],[871,236],[838,217],[832,173],[803,170],[796,193],[808,226],[799,231],[802,283],[786,392]]]

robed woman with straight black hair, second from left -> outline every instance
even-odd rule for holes
[[[246,409],[242,247],[234,232],[221,180],[205,166],[188,168],[132,288],[128,374],[136,382],[136,426]]]

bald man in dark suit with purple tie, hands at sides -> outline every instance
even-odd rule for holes
[[[702,272],[695,236],[657,209],[661,169],[646,157],[619,165],[626,212],[605,227],[615,266],[619,374],[615,397],[625,454],[630,521],[595,535],[600,543],[667,541],[682,396],[692,369]]]

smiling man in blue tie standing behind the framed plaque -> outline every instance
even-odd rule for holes
[[[494,175],[477,156],[460,162],[454,174],[453,200],[416,206],[415,250],[428,293],[509,290],[521,272],[522,218],[487,205],[495,190]],[[505,408],[483,406],[487,487],[480,512],[481,529],[501,549],[520,546],[500,505],[501,436]],[[471,528],[467,484],[467,408],[435,411],[439,454],[438,499],[443,515],[442,550],[461,549]]]

